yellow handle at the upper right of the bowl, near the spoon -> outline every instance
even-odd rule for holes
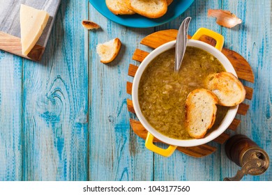
[[[201,36],[209,36],[216,40],[216,49],[219,51],[222,50],[224,45],[224,37],[220,35],[220,33],[216,33],[215,31],[211,31],[210,29],[200,28],[195,34],[192,36],[192,39],[199,40]]]

